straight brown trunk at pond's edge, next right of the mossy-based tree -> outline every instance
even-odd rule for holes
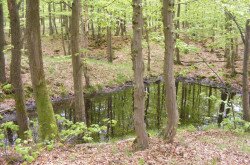
[[[71,47],[72,47],[72,65],[73,65],[73,79],[74,79],[74,92],[75,92],[75,119],[76,121],[83,121],[86,123],[84,97],[83,97],[83,80],[82,69],[83,63],[81,62],[80,55],[80,0],[73,0],[72,3],[72,18],[71,18]]]

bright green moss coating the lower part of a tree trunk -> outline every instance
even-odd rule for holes
[[[51,140],[58,136],[54,111],[45,82],[34,89],[39,122],[39,133],[42,140]]]

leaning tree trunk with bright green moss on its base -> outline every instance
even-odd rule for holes
[[[39,0],[27,0],[26,17],[27,48],[32,87],[38,113],[40,138],[42,140],[53,139],[58,134],[58,128],[43,69]]]

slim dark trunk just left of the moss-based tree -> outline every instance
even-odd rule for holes
[[[21,139],[25,139],[25,131],[29,129],[28,117],[25,110],[25,99],[23,94],[23,83],[21,78],[21,49],[22,49],[22,37],[18,5],[16,0],[8,0],[8,9],[10,15],[10,27],[11,27],[11,68],[10,77],[11,83],[15,91],[15,103],[16,103],[16,115],[17,123],[19,125],[18,136]]]

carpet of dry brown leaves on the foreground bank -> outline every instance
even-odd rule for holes
[[[173,144],[150,138],[134,152],[133,139],[111,144],[81,144],[44,152],[33,164],[250,164],[250,138],[228,132],[180,132]]]

